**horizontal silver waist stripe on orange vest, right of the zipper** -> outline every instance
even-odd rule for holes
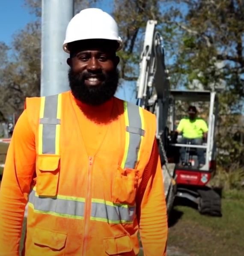
[[[107,205],[92,202],[91,220],[108,223],[132,223],[136,208],[124,205]]]

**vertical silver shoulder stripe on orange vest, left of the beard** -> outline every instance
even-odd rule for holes
[[[43,124],[42,130],[42,154],[55,154],[56,125],[60,123],[57,119],[58,95],[45,97],[44,114],[40,119]]]

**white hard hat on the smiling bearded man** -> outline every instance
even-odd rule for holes
[[[68,23],[62,48],[68,52],[68,43],[85,39],[109,39],[118,42],[116,51],[122,49],[122,39],[118,35],[116,21],[98,8],[88,8],[80,11]]]

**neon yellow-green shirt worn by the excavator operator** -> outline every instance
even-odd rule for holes
[[[206,122],[201,118],[190,120],[189,117],[180,120],[177,130],[183,133],[183,137],[188,139],[202,138],[203,133],[208,131]]]

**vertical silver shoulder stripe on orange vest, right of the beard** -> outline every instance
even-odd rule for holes
[[[128,111],[129,126],[126,128],[126,130],[128,130],[128,132],[130,132],[130,130],[135,131],[135,129],[142,130],[141,129],[142,122],[141,122],[139,107],[130,102],[127,102],[127,111]],[[129,141],[129,147],[128,147],[128,155],[125,161],[125,168],[131,168],[131,169],[135,168],[135,165],[137,163],[138,151],[140,148],[140,142],[141,142],[141,134],[130,132],[130,141]]]

